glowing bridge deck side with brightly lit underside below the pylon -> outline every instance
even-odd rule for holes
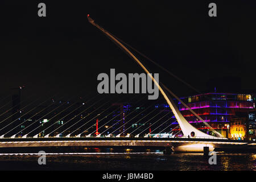
[[[186,138],[168,138],[168,139],[114,139],[104,138],[48,138],[44,140],[36,139],[2,139],[0,140],[0,147],[57,147],[57,146],[127,146],[127,147],[173,147],[174,151],[187,151],[187,152],[203,152],[203,147],[208,146],[210,150],[214,148],[255,148],[256,143],[251,142],[237,142],[220,139],[186,139]],[[185,149],[184,149],[185,148]],[[182,149],[182,150],[180,150]]]

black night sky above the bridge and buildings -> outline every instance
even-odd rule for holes
[[[40,2],[47,8],[43,18]],[[217,17],[208,16],[210,2],[217,4]],[[255,1],[2,0],[1,97],[20,85],[26,86],[25,94],[96,93],[97,75],[109,74],[110,68],[142,73],[88,22],[87,14],[201,92],[208,90],[210,78],[221,77],[241,78],[243,90],[256,90]],[[142,62],[177,95],[193,93],[146,59]]]

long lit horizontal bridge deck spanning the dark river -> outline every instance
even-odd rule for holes
[[[159,146],[177,147],[187,144],[203,144],[213,147],[256,146],[248,140],[203,138],[2,138],[0,147],[47,147],[47,146]]]

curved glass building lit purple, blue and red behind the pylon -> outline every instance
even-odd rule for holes
[[[244,115],[255,110],[255,97],[253,94],[233,93],[205,93],[191,97],[181,98],[193,111],[214,129],[224,133],[230,119],[237,118],[237,113]],[[181,103],[176,102],[179,110],[188,122],[193,123],[198,129],[208,129],[195,115]]]

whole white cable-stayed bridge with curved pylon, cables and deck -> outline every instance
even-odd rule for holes
[[[33,100],[22,109],[4,117],[0,114],[0,148],[3,147],[60,147],[60,146],[124,146],[124,147],[166,147],[166,151],[207,152],[214,148],[255,149],[255,142],[247,140],[229,140],[214,130],[207,122],[177,97],[162,83],[158,83],[147,68],[121,43],[104,28],[94,23],[130,57],[135,60],[154,81],[163,96],[165,109],[146,103],[138,107],[125,104],[110,104],[112,100],[86,96],[79,102],[40,102],[32,107]],[[52,98],[52,97],[51,97]],[[211,134],[196,129],[180,113],[174,99],[183,104],[199,121],[211,131]],[[135,104],[143,97],[133,98]],[[56,105],[56,102],[58,105]],[[17,104],[19,105],[19,104]],[[3,107],[3,106],[2,106]],[[14,108],[18,108],[14,106]],[[38,111],[38,108],[39,109]],[[122,108],[122,109],[121,109]],[[27,110],[26,110],[27,109]],[[24,111],[26,110],[26,111]],[[33,114],[32,114],[33,113]],[[16,116],[16,118],[15,118]],[[49,118],[49,119],[44,119]]]

